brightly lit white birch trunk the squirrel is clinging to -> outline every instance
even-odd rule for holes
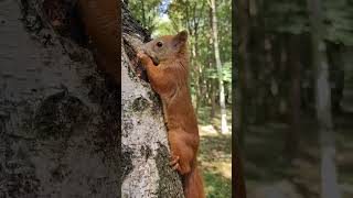
[[[150,85],[137,77],[139,69],[133,69],[135,51],[149,36],[122,6],[121,148],[124,162],[128,162],[124,166],[122,197],[183,197],[181,180],[168,166],[169,144],[161,101]]]

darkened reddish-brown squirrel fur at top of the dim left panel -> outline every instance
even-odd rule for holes
[[[97,48],[95,59],[99,69],[120,85],[118,1],[78,0],[77,6],[85,30],[93,46]]]

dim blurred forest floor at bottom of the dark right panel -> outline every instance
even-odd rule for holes
[[[299,154],[292,162],[284,152],[288,125],[252,125],[243,156],[249,198],[318,198],[320,146],[313,118],[303,118]],[[353,116],[335,116],[336,164],[342,198],[353,197]]]

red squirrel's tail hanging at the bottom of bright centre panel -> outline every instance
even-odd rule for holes
[[[189,174],[184,175],[183,189],[185,198],[205,198],[202,176],[196,166]]]

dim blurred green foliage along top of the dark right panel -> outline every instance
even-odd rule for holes
[[[264,14],[264,23],[267,32],[301,34],[310,32],[307,1],[269,0],[259,4],[253,0],[258,14]],[[353,45],[353,4],[346,0],[323,0],[324,7],[324,37],[334,43]]]

